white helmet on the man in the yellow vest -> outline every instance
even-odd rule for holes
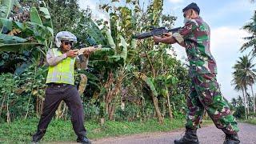
[[[57,47],[62,45],[62,41],[77,42],[77,37],[69,31],[60,31],[55,36],[55,44]]]

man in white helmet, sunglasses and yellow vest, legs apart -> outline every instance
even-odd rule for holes
[[[90,143],[86,138],[86,128],[84,127],[84,110],[82,100],[74,86],[74,64],[79,62],[76,50],[71,50],[77,38],[68,31],[59,32],[56,37],[58,48],[50,49],[46,54],[46,62],[49,70],[46,78],[46,97],[42,109],[42,115],[38,123],[38,130],[33,135],[32,142],[38,142],[46,133],[46,129],[55,111],[62,100],[66,102],[71,112],[71,122],[77,142]],[[84,52],[86,69],[90,51]]]

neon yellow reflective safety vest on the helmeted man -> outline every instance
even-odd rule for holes
[[[58,49],[53,49],[54,57],[62,55]],[[74,85],[74,62],[75,58],[65,58],[55,66],[49,66],[46,83],[66,83]]]

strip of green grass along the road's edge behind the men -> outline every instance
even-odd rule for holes
[[[86,122],[86,130],[88,138],[106,138],[129,134],[142,134],[149,132],[160,132],[178,130],[184,127],[185,120],[181,119],[165,119],[160,125],[156,119],[150,119],[146,122],[105,122],[100,126],[98,122]],[[205,121],[204,125],[212,122]],[[0,143],[28,143],[31,135],[35,132],[38,125],[38,118],[27,120],[17,120],[9,125],[3,123],[0,126]],[[70,121],[53,120],[48,126],[46,135],[42,142],[62,142],[73,141],[76,135],[72,129]]]

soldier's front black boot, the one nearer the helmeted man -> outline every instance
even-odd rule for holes
[[[197,129],[186,128],[185,135],[180,139],[175,139],[174,144],[199,144]]]

